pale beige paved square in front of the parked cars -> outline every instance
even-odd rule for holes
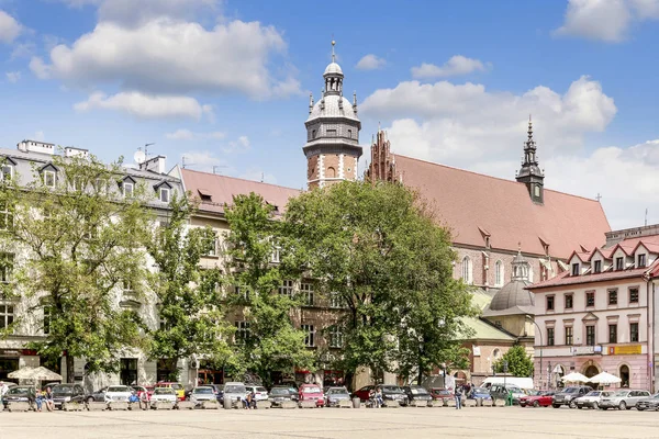
[[[469,407],[0,413],[0,438],[659,438],[654,412]]]

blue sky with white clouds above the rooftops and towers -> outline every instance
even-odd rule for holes
[[[24,139],[302,189],[332,40],[360,144],[659,223],[659,0],[0,0],[0,146]],[[646,216],[647,210],[647,216]]]

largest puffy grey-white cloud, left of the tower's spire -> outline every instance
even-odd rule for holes
[[[270,57],[286,48],[275,27],[258,22],[235,20],[208,31],[169,18],[135,27],[101,21],[71,46],[54,47],[47,64],[33,58],[31,68],[40,78],[80,87],[111,83],[169,94],[237,91],[264,99],[300,92],[290,69],[279,79],[268,69]]]

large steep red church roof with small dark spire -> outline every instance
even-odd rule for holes
[[[567,258],[578,245],[601,247],[611,230],[595,200],[545,190],[544,205],[535,204],[526,185],[448,166],[395,155],[403,184],[416,188],[434,204],[454,243],[482,247],[480,229],[491,234],[493,248]]]

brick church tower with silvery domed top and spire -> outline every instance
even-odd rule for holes
[[[353,94],[353,103],[343,95],[344,75],[336,64],[334,44],[332,63],[323,74],[321,99],[314,104],[313,94],[310,95],[309,119],[304,122],[306,144],[302,150],[306,156],[309,189],[357,179],[357,160],[361,156],[357,94]]]

